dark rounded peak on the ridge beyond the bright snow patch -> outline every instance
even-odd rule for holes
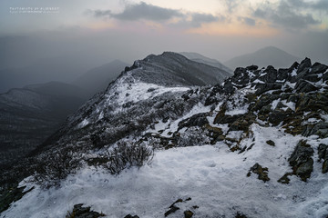
[[[149,54],[126,67],[125,72],[131,72],[134,79],[145,83],[182,86],[218,84],[231,75],[218,67],[195,62],[173,52]]]

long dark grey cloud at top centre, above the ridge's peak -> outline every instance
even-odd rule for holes
[[[182,13],[180,10],[169,9],[160,7],[157,5],[149,5],[145,2],[141,2],[135,5],[126,5],[123,12],[115,14],[110,10],[95,10],[91,11],[91,13],[96,17],[110,17],[118,20],[151,20],[151,21],[167,21],[174,17],[179,17],[182,19],[181,23],[192,25],[192,26],[200,26],[203,23],[212,23],[216,21],[223,21],[225,19],[224,16],[215,16],[210,14],[201,14],[201,13]],[[187,18],[191,17],[191,20]]]

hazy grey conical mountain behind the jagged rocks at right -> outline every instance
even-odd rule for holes
[[[251,64],[258,65],[260,67],[266,67],[273,65],[277,68],[286,68],[292,65],[295,61],[300,61],[301,58],[296,57],[292,54],[288,54],[282,49],[274,46],[268,46],[261,48],[260,50],[251,53],[243,54],[232,58],[224,64],[235,69],[236,67],[245,67]]]

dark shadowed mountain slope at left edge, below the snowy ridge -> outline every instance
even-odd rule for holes
[[[13,163],[36,148],[86,100],[85,90],[59,82],[0,94],[0,165]]]

